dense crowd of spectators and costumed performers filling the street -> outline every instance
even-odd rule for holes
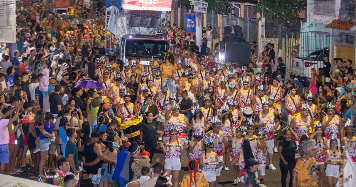
[[[21,3],[17,19],[30,28],[18,31],[12,54],[1,48],[1,174],[32,171],[56,186],[91,178],[94,187],[216,187],[232,170],[234,185],[255,187],[266,165],[277,170],[278,153],[282,187],[288,172],[289,186],[326,186],[326,176],[334,187],[344,155],[356,163],[349,59],[331,65],[325,56],[297,90],[272,43],[260,54],[252,43],[248,64],[224,62],[211,27],[197,46],[167,22],[169,50],[143,66],[93,50],[106,45],[104,9],[60,17]],[[89,80],[101,86],[78,87]],[[157,148],[165,160],[151,165]]]

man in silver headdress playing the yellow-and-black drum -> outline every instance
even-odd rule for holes
[[[121,118],[121,123],[137,117],[138,114],[136,106],[130,102],[130,93],[127,91],[124,93],[124,100],[125,103],[122,103],[117,107],[118,110],[116,110],[115,114],[118,118]]]

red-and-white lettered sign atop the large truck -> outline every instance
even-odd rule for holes
[[[124,9],[171,11],[172,0],[125,0]]]

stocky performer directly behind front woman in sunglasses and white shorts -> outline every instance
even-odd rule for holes
[[[174,128],[177,129],[177,138],[181,141],[188,139],[188,133],[183,133],[184,127],[190,126],[188,118],[184,114],[179,114],[179,105],[174,103],[172,108],[167,109],[164,113],[166,124],[164,125],[164,132],[169,132],[171,124],[174,124]],[[163,137],[163,142],[169,139],[168,135]]]

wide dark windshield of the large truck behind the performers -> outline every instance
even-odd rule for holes
[[[155,40],[127,40],[125,56],[131,57],[159,57],[168,50],[168,43]]]

